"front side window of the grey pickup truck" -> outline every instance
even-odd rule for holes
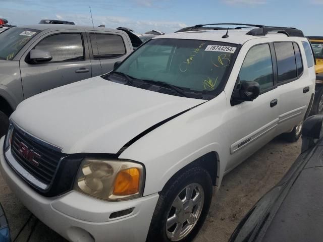
[[[82,36],[79,33],[55,34],[41,40],[35,47],[49,51],[50,62],[83,61],[84,50]]]

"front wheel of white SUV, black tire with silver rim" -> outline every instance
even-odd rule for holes
[[[192,191],[192,189],[191,199],[187,200],[187,191]],[[177,203],[175,202],[176,198]],[[178,199],[181,199],[181,201]],[[196,200],[195,205],[193,199]],[[205,221],[211,200],[212,180],[209,173],[199,166],[185,168],[174,176],[164,187],[163,191],[161,191],[151,219],[146,241],[192,241]],[[178,208],[175,208],[173,206],[174,204]],[[192,214],[197,219],[194,219],[195,217]],[[170,221],[168,223],[169,228],[167,229],[166,227],[167,219],[174,216],[176,217],[176,221],[180,223],[183,223],[187,219],[183,223],[184,231],[181,235],[182,237],[176,235],[179,239],[176,239],[174,234],[177,227],[179,229],[181,228],[180,225],[177,223],[172,225]],[[174,233],[174,237],[172,237],[172,232]]]

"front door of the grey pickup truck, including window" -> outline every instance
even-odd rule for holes
[[[52,59],[32,64],[32,49],[49,51]],[[52,31],[40,36],[20,59],[24,98],[91,77],[85,31]]]

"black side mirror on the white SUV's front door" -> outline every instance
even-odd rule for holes
[[[259,96],[259,93],[259,83],[241,81],[236,90],[233,92],[233,101],[235,103],[253,101]]]

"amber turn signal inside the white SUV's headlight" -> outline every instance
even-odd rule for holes
[[[140,170],[132,167],[121,170],[115,180],[113,195],[126,196],[139,192]]]

